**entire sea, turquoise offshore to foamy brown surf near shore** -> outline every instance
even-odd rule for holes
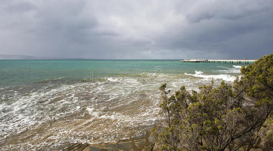
[[[221,81],[241,65],[179,60],[0,60],[0,148],[62,149],[142,135],[158,120],[160,92]]]

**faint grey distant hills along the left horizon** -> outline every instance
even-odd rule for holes
[[[8,55],[0,54],[0,60],[12,60],[12,59],[22,59],[22,60],[37,60],[37,59],[69,59],[69,60],[85,60],[85,58],[60,58],[60,57],[35,57],[30,55]]]

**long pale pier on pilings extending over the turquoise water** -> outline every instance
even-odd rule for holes
[[[249,64],[249,62],[254,62],[256,60],[202,60],[202,59],[187,59],[180,60],[180,62],[203,62],[203,63],[230,63],[230,64]]]

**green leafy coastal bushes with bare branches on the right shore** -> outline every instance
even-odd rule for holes
[[[159,89],[163,124],[152,129],[162,150],[273,149],[273,54],[241,68],[233,85]]]

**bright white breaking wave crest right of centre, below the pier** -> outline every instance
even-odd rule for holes
[[[207,79],[207,80],[214,79],[214,80],[224,80],[224,81],[233,82],[236,79],[235,76],[229,75],[229,74],[205,75],[205,74],[203,74],[202,71],[195,71],[195,74],[188,74],[188,73],[185,73],[185,74],[191,75],[193,77]]]

